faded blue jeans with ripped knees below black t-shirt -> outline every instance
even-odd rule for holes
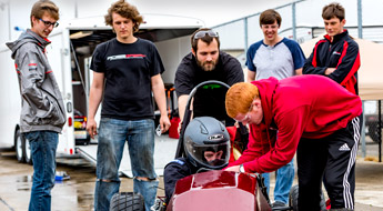
[[[143,195],[148,211],[154,204],[158,187],[153,161],[154,121],[101,118],[97,152],[95,211],[109,210],[111,198],[120,190],[119,167],[127,141],[134,177],[134,192]],[[149,181],[138,180],[137,177],[148,178]]]

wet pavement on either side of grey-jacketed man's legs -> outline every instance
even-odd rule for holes
[[[82,160],[82,159],[79,159]],[[85,161],[58,163],[58,171],[65,171],[69,180],[56,181],[52,190],[52,210],[92,210],[95,170]],[[33,169],[18,163],[13,153],[2,153],[0,158],[0,210],[28,210]]]

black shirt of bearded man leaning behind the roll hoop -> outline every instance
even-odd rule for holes
[[[175,72],[174,88],[177,96],[190,94],[192,89],[201,82],[216,80],[232,86],[243,82],[241,63],[232,56],[220,51],[219,61],[213,71],[202,70],[192,53],[185,56]],[[225,125],[233,125],[234,121],[226,114],[224,100],[228,89],[199,89],[193,101],[193,117],[213,117],[225,121]]]

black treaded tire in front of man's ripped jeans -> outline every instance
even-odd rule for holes
[[[115,193],[110,201],[109,211],[144,211],[143,197],[139,193]]]

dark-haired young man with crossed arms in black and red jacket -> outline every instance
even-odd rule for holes
[[[343,28],[344,8],[339,3],[330,3],[323,8],[322,18],[327,34],[316,42],[303,67],[303,74],[329,77],[357,94],[356,71],[361,66],[359,46]]]

